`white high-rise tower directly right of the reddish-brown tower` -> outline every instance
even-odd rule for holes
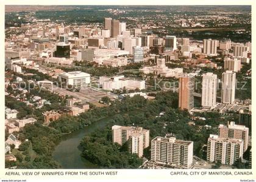
[[[202,75],[202,107],[211,108],[216,105],[217,75]]]

